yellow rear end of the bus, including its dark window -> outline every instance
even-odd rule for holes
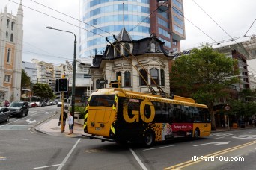
[[[115,119],[116,95],[92,95],[88,108],[88,133],[109,137]]]

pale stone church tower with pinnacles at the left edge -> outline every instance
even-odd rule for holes
[[[0,13],[0,101],[19,101],[21,94],[23,9]]]

